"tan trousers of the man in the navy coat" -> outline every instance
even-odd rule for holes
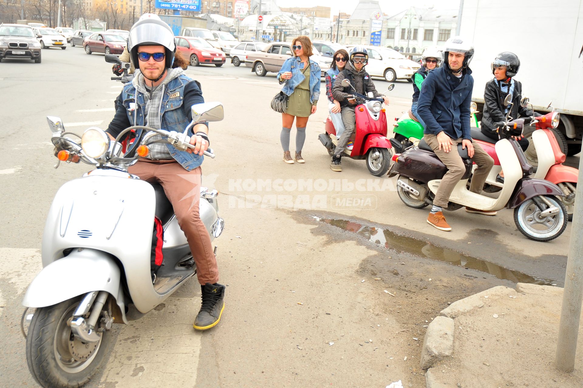
[[[454,187],[458,184],[459,180],[462,179],[463,174],[466,172],[466,167],[463,164],[462,157],[458,153],[458,144],[462,143],[462,138],[453,140],[454,144],[451,146],[451,151],[445,152],[443,149],[439,149],[439,142],[437,141],[436,135],[426,134],[423,136],[429,147],[433,149],[437,157],[444,163],[448,168],[448,172],[445,173],[439,188],[437,189],[436,198],[433,200],[433,204],[447,208],[449,202],[449,195],[454,191]],[[472,183],[470,184],[470,191],[472,193],[480,194],[484,188],[484,183],[486,183],[486,178],[494,165],[494,159],[487,154],[486,151],[479,144],[472,140],[474,147],[474,156],[472,160],[476,163],[477,168],[472,175]]]

